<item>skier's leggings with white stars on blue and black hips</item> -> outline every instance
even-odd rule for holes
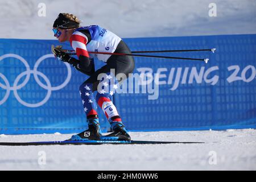
[[[117,53],[131,53],[130,49],[121,40],[118,44]],[[121,84],[120,80],[115,78],[119,73],[125,74],[126,77],[132,73],[134,69],[134,59],[131,56],[115,56],[109,57],[107,64],[98,69],[86,80],[79,88],[82,98],[82,105],[87,118],[97,117],[97,104],[104,111],[106,117],[110,121],[121,121],[117,108],[112,102],[112,96],[115,89]],[[113,72],[114,71],[114,72]],[[102,74],[101,80],[98,75]],[[100,75],[101,76],[101,75]],[[123,81],[123,80],[121,80]],[[102,86],[99,86],[102,85]],[[98,88],[99,87],[99,88]],[[96,98],[93,93],[97,91]]]

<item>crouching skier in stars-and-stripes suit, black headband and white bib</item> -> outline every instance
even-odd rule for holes
[[[60,13],[53,23],[54,36],[59,39],[59,42],[69,41],[76,51],[78,59],[65,53],[61,46],[52,46],[52,53],[61,61],[72,64],[78,71],[90,76],[79,88],[88,130],[73,135],[71,139],[100,140],[108,138],[130,140],[130,135],[127,133],[117,108],[112,102],[112,96],[113,91],[117,89],[117,85],[121,84],[115,76],[118,73],[124,73],[128,77],[128,74],[133,72],[134,59],[131,56],[89,54],[88,52],[131,53],[131,51],[121,38],[109,30],[97,25],[80,27],[79,24],[80,20],[76,16],[67,13]],[[106,65],[94,71],[93,58],[104,61]],[[114,69],[114,75],[110,72],[110,69]],[[98,80],[97,77],[101,73],[106,73],[106,77]],[[113,79],[114,84],[110,81],[113,81]],[[106,86],[105,88],[108,88],[108,90],[98,90],[97,87],[100,83]],[[97,91],[96,98],[93,97],[94,91]],[[100,129],[96,111],[97,104],[104,111],[113,129],[113,133],[105,137],[102,137]]]

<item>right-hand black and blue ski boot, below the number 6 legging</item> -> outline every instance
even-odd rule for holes
[[[110,122],[113,133],[104,136],[105,140],[131,140],[122,122]]]

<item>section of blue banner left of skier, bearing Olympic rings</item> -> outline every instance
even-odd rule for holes
[[[0,39],[0,133],[79,133],[87,128],[79,86],[88,76],[55,59],[56,40]],[[68,43],[66,49],[71,49]],[[99,61],[96,68],[100,68]],[[98,111],[102,131],[109,129]]]

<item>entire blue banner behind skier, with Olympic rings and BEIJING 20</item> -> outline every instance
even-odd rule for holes
[[[114,104],[127,129],[256,128],[256,35],[124,39],[132,51],[208,49],[134,57],[134,74]],[[0,39],[0,133],[78,133],[86,129],[79,86],[88,76],[56,60],[56,40]],[[71,49],[67,44],[64,48]],[[96,68],[103,63],[95,60]],[[109,123],[100,109],[103,131]]]

